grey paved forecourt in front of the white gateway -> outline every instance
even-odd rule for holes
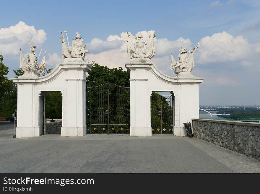
[[[260,161],[197,138],[12,135],[0,130],[0,173],[260,173]]]

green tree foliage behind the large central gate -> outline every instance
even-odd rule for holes
[[[107,133],[109,113],[110,133],[129,133],[130,72],[121,67],[91,65],[87,76],[87,132]]]

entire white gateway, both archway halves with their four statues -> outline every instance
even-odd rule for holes
[[[135,40],[130,35],[129,39],[130,42],[126,41],[131,61],[125,63],[125,66],[130,71],[130,136],[152,135],[151,94],[152,92],[165,91],[172,95],[172,101],[168,106],[169,110],[172,111],[171,123],[173,126],[169,129],[163,128],[163,109],[161,106],[161,109],[158,110],[161,123],[160,129],[158,127],[157,130],[162,132],[171,129],[174,135],[183,136],[185,134],[183,123],[191,122],[191,118],[199,118],[198,84],[203,81],[203,78],[196,78],[190,74],[194,67],[193,53],[196,49],[194,48],[189,58],[183,48],[180,50],[177,62],[172,57],[172,69],[177,76],[170,77],[163,74],[150,61],[155,55],[155,34],[153,38],[149,36],[148,40],[144,40],[141,33]],[[92,66],[84,60],[88,50],[85,50],[82,42],[83,39],[78,33],[76,33],[72,46],[69,46],[69,42],[66,44],[63,37],[62,56],[64,61],[50,74],[42,77],[39,76],[39,72],[44,71],[45,61],[42,61],[38,66],[35,47],[31,55],[28,55],[28,62],[25,61],[21,53],[20,69],[25,71],[25,74],[18,78],[12,78],[18,88],[17,138],[43,135],[44,95],[48,91],[60,91],[62,94],[61,136],[84,136],[87,134],[86,111],[88,114],[90,110],[86,110],[86,73],[90,71]],[[108,90],[107,97],[109,95]],[[160,103],[162,104],[162,98]],[[105,114],[103,115],[105,116]],[[95,119],[92,119],[91,122],[90,125],[98,125]],[[126,123],[123,124],[127,125]],[[102,125],[107,125],[108,130],[110,130],[109,123],[102,123]],[[153,123],[153,125],[157,124]]]

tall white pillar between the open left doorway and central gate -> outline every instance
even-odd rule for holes
[[[86,125],[86,69],[87,63],[78,58],[66,58],[61,63],[66,69],[66,97],[63,96],[63,109],[66,109],[61,136],[84,136]],[[66,98],[66,99],[65,99]]]

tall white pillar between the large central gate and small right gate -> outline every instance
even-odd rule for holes
[[[152,136],[151,122],[147,122],[147,69],[152,64],[147,58],[133,58],[126,63],[130,73],[130,136]],[[149,99],[147,99],[149,97]]]

